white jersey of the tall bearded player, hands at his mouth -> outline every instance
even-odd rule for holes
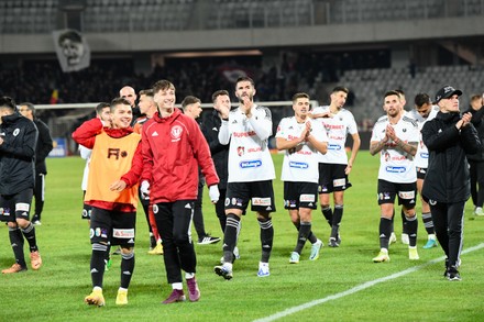
[[[254,106],[248,119],[240,109],[229,113],[229,121],[222,121],[219,131],[221,144],[229,144],[229,182],[272,180],[274,163],[267,146],[272,135],[271,111]],[[262,137],[260,137],[262,136]]]

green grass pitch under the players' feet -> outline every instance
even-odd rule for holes
[[[277,177],[282,155],[273,155]],[[230,281],[213,274],[222,255],[221,245],[196,245],[201,291],[199,302],[161,304],[170,293],[162,256],[147,255],[148,235],[144,214],[139,212],[136,230],[136,266],[129,291],[129,304],[117,307],[120,279],[120,256],[105,275],[105,308],[86,306],[82,300],[91,291],[89,231],[80,219],[80,179],[84,160],[78,157],[47,160],[46,202],[42,226],[36,227],[44,265],[38,271],[0,276],[0,321],[251,321],[288,308],[322,299],[369,280],[419,266],[443,255],[440,247],[422,249],[427,234],[419,213],[418,251],[420,260],[408,260],[407,246],[399,241],[402,220],[395,230],[398,243],[391,246],[391,263],[374,264],[377,254],[380,208],[376,202],[378,158],[361,152],[350,179],[353,187],[345,192],[341,226],[342,244],[327,246],[330,229],[320,209],[314,212],[314,232],[324,247],[316,262],[309,262],[306,245],[297,265],[288,263],[297,233],[283,208],[283,185],[274,181],[277,212],[273,215],[274,248],[271,276],[256,276],[260,259],[258,225],[249,212],[242,219],[239,248],[241,259],[234,264]],[[222,236],[213,207],[205,190],[204,215],[208,232]],[[397,214],[399,210],[397,211]],[[464,249],[483,242],[484,218],[474,218],[472,202],[466,204]],[[194,231],[194,238],[196,238]],[[25,252],[28,247],[25,246]],[[463,280],[450,282],[442,277],[443,260],[403,277],[377,284],[353,295],[330,300],[280,321],[482,321],[484,312],[484,249],[462,256]],[[30,260],[26,253],[28,265]],[[13,255],[8,229],[0,225],[0,267],[10,267]],[[186,284],[184,281],[186,290]]]

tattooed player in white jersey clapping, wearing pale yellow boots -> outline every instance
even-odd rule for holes
[[[403,103],[398,92],[388,91],[384,97],[386,118],[380,119],[373,127],[370,153],[380,153],[378,170],[378,204],[380,219],[380,253],[374,263],[389,262],[388,243],[392,234],[394,202],[398,196],[398,204],[407,220],[409,235],[408,257],[419,259],[417,252],[417,215],[415,201],[417,195],[417,175],[414,156],[419,143],[417,123],[403,115]]]

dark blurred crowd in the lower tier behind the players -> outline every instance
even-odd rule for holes
[[[177,102],[187,95],[210,102],[213,91],[233,92],[237,77],[246,74],[255,80],[260,101],[290,100],[298,91],[326,100],[321,85],[338,82],[345,70],[388,66],[388,53],[372,51],[351,55],[286,53],[277,59],[263,56],[167,58],[164,66],[156,65],[144,74],[135,71],[132,59],[92,59],[89,68],[74,73],[63,73],[54,59],[23,60],[15,68],[0,63],[0,93],[35,104],[50,103],[54,90],[58,91],[56,103],[109,102],[124,85],[139,91],[156,80],[168,79],[176,86]]]

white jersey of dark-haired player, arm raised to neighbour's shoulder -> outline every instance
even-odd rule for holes
[[[312,114],[329,112],[329,106],[318,107],[312,110]],[[321,123],[328,134],[328,152],[319,154],[319,162],[324,164],[346,165],[348,155],[344,149],[348,134],[358,133],[358,125],[353,114],[345,109],[341,109],[338,114],[331,118],[315,119]]]

